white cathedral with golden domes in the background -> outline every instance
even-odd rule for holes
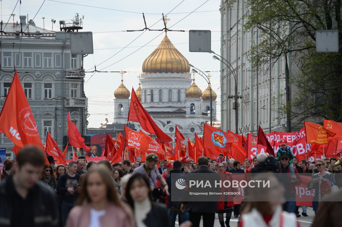
[[[210,124],[210,88],[203,92],[192,78],[188,60],[174,47],[167,33],[158,47],[145,59],[135,93],[140,102],[171,138],[175,126],[184,137],[203,134],[203,124]],[[212,92],[213,121],[216,112],[216,93]],[[126,124],[130,105],[130,91],[121,79],[114,92],[114,122]],[[130,122],[139,131],[139,123]]]

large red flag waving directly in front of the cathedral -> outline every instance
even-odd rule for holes
[[[130,108],[128,112],[128,120],[139,122],[141,127],[146,132],[156,135],[158,139],[163,143],[172,141],[171,137],[166,135],[148,115],[143,105],[141,105],[141,103],[139,102],[139,99],[136,96],[133,88]]]

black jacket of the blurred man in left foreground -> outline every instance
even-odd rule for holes
[[[21,218],[16,215],[16,207],[21,204],[14,204],[11,195],[14,188],[13,177],[9,177],[0,183],[0,226],[12,227],[14,218]],[[54,191],[48,188],[40,180],[37,180],[33,188],[29,190],[32,196],[31,209],[33,213],[33,225],[35,227],[57,226],[57,201]],[[29,220],[27,220],[29,221]]]

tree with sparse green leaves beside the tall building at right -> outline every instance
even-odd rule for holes
[[[289,72],[293,98],[277,111],[290,116],[292,128],[305,119],[342,122],[341,0],[246,0],[246,4],[251,10],[245,28],[254,34],[258,28],[264,38],[251,49],[252,64],[269,67],[291,56],[298,67]],[[315,31],[334,29],[339,32],[339,52],[317,53]]]

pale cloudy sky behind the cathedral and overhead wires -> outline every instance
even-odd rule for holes
[[[22,0],[14,11],[16,14],[15,20],[19,20],[19,15],[27,15],[32,19],[37,13],[39,7],[44,0]],[[57,0],[59,1],[59,0]],[[147,27],[152,29],[162,29],[163,22],[161,13],[169,13],[175,6],[182,2],[182,0],[174,1],[157,1],[157,0],[143,0],[143,1],[107,1],[107,0],[61,0],[64,2],[90,5],[96,7],[103,7],[108,9],[99,9],[94,7],[73,5],[67,3],[60,3],[50,0],[45,0],[42,8],[34,19],[35,24],[43,27],[43,19],[45,17],[45,28],[51,30],[51,19],[56,20],[53,30],[59,29],[59,20],[72,19],[76,13],[80,16],[84,15],[83,31],[93,32],[93,46],[94,54],[84,58],[84,68],[86,70],[92,68],[94,64],[98,65],[109,57],[113,56],[106,62],[97,66],[97,70],[107,67],[121,59],[121,61],[107,67],[106,71],[129,71],[124,75],[124,85],[131,90],[132,86],[136,89],[138,85],[137,76],[142,71],[142,64],[147,56],[157,47],[163,39],[164,34],[159,35],[159,31],[142,32],[121,32],[122,30],[134,30],[144,28],[144,21],[142,14],[145,13]],[[190,12],[195,10],[198,6],[206,2],[206,0],[184,0],[177,6],[168,17],[168,27],[173,26],[182,18],[187,16]],[[15,0],[2,0],[1,13],[2,20],[7,22],[10,14],[14,8]],[[178,22],[171,29],[178,30],[211,30],[211,49],[217,53],[220,52],[220,1],[209,0],[203,4],[196,11],[210,11],[210,12],[194,12]],[[130,11],[121,12],[109,9]],[[136,13],[132,13],[136,12]],[[10,19],[12,22],[13,19]],[[142,34],[128,47],[124,48],[132,42],[137,36]],[[159,35],[158,37],[156,37]],[[188,32],[169,32],[168,37],[174,46],[188,59],[189,63],[198,67],[202,71],[217,71],[210,73],[212,75],[211,84],[213,90],[218,94],[216,101],[220,101],[220,64],[219,61],[212,59],[209,53],[195,53],[189,52],[189,36]],[[154,39],[155,38],[155,39]],[[154,39],[154,40],[153,40]],[[151,41],[153,40],[153,41]],[[150,42],[151,41],[151,42]],[[149,43],[148,43],[149,42]],[[141,46],[148,43],[145,47]],[[185,43],[185,44],[183,44]],[[139,50],[137,50],[139,49]],[[120,51],[121,50],[121,51]],[[137,51],[136,51],[137,50]],[[117,53],[120,51],[119,53]],[[134,52],[136,51],[136,52]],[[134,52],[132,54],[132,52]],[[130,55],[131,54],[131,55]],[[130,55],[130,56],[128,56]],[[127,57],[128,56],[128,57]],[[125,58],[126,57],[126,58]],[[87,81],[92,73],[87,73],[85,81]],[[204,91],[208,86],[206,81],[199,75],[195,77],[196,84]],[[88,127],[98,127],[103,123],[105,118],[113,121],[114,117],[114,91],[121,83],[121,75],[119,73],[95,73],[84,85],[84,91],[88,97]],[[216,117],[221,118],[220,104],[217,106]]]

